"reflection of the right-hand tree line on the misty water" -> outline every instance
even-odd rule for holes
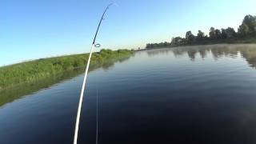
[[[162,50],[149,50],[147,54],[152,57],[156,54],[168,54],[173,53],[175,57],[180,57],[187,54],[191,61],[195,58],[205,59],[208,56],[213,56],[215,60],[223,57],[229,58],[245,58],[249,66],[256,67],[256,45],[254,44],[222,44],[222,45],[210,45],[210,46],[180,46],[173,49]]]

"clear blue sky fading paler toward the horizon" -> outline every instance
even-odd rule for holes
[[[170,42],[186,31],[209,33],[256,15],[255,0],[1,0],[0,66],[90,51],[98,21],[111,6],[97,43],[112,50]]]

